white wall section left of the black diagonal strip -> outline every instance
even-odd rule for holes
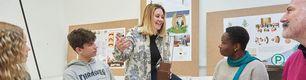
[[[23,14],[19,4],[19,0],[0,0],[0,21],[7,22],[14,25],[17,25],[23,28],[23,32],[27,36],[27,45],[31,48],[28,32],[26,25],[23,19]],[[30,32],[31,33],[31,32]],[[32,50],[28,52],[27,58],[28,72],[32,76],[32,79],[39,79],[38,72],[36,69],[36,64],[34,61],[34,56]]]

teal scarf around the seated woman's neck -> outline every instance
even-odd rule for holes
[[[242,70],[244,69],[244,67],[251,61],[253,60],[259,60],[258,58],[256,57],[253,57],[249,54],[248,51],[245,51],[245,56],[242,57],[241,59],[237,60],[237,61],[234,61],[231,59],[231,57],[228,57],[227,58],[227,64],[230,65],[230,66],[240,66],[238,71],[236,72],[233,80],[238,80]],[[260,60],[259,60],[260,61]]]

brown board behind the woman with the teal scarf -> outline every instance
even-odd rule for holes
[[[206,14],[207,29],[207,76],[213,76],[215,67],[224,57],[219,53],[218,45],[223,34],[223,18],[266,15],[286,12],[288,4],[246,8],[229,11],[208,12]]]

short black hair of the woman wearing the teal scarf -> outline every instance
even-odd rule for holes
[[[227,27],[225,32],[227,32],[227,38],[232,40],[232,44],[239,43],[241,49],[245,50],[250,40],[249,33],[245,28],[240,26]]]

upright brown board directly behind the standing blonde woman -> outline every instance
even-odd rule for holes
[[[140,0],[141,19],[147,6],[147,0]],[[154,3],[154,0],[152,0]],[[192,51],[191,61],[173,61],[172,72],[176,75],[199,76],[199,0],[191,0],[191,17],[192,17]]]

